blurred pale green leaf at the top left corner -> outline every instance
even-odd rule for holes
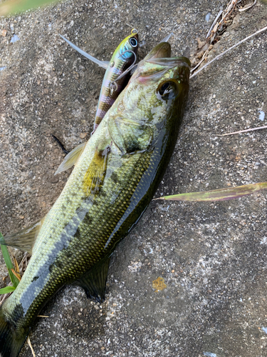
[[[39,6],[47,6],[57,0],[9,0],[0,5],[0,16],[16,14]]]

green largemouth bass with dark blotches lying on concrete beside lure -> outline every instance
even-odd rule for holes
[[[66,284],[105,298],[110,255],[149,205],[182,122],[190,62],[168,56],[161,43],[140,61],[46,217],[0,242],[32,251],[0,307],[2,357],[19,355],[39,311]]]

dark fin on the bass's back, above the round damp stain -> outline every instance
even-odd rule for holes
[[[103,259],[95,264],[90,271],[83,274],[73,284],[84,288],[88,298],[92,298],[98,302],[105,300],[105,284],[108,277],[108,266],[110,265],[110,257]]]

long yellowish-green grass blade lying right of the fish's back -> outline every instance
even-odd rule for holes
[[[220,188],[219,190],[180,193],[178,195],[164,196],[155,199],[167,201],[226,201],[234,198],[251,195],[267,189],[267,182],[251,183],[249,185],[231,188]]]

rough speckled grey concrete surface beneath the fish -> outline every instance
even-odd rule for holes
[[[72,149],[93,129],[103,69],[58,33],[108,60],[130,24],[147,41],[140,56],[170,31],[174,55],[194,54],[226,3],[79,0],[0,18],[3,233],[44,216],[66,183],[69,173],[53,176],[63,154],[51,134]],[[210,56],[266,19],[263,4],[240,13]],[[267,109],[266,40],[255,37],[192,79],[155,196],[267,181],[266,131],[216,136],[266,125],[259,113]],[[36,356],[267,356],[266,249],[266,193],[220,203],[152,201],[112,257],[105,303],[76,287],[59,292],[43,310],[49,317],[33,326]],[[167,288],[156,292],[159,277]],[[30,356],[25,345],[21,357]]]

